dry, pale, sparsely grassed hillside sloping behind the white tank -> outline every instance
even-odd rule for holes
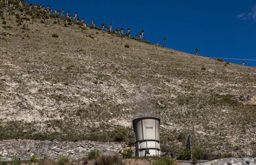
[[[64,20],[45,27],[25,12],[30,23],[22,30],[20,12],[4,14],[1,140],[132,145],[132,119],[157,116],[161,148],[174,155],[186,146],[189,123],[194,147],[208,153],[256,151],[256,69],[66,27]]]

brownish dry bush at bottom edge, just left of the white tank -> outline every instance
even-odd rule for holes
[[[96,159],[95,165],[122,165],[122,158],[118,154],[107,155],[101,154],[101,156]]]

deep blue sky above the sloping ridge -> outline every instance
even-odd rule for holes
[[[78,12],[96,25],[145,30],[145,40],[155,44],[166,37],[166,47],[208,57],[256,59],[256,0],[27,0],[28,4]],[[225,60],[241,64],[242,61]],[[256,61],[245,61],[256,67]]]

